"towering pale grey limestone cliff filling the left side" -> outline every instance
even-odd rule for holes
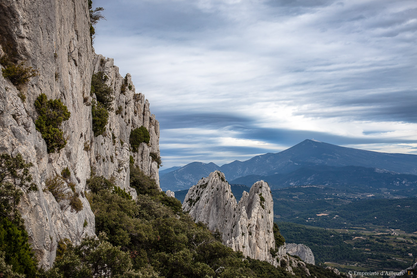
[[[38,191],[25,192],[20,210],[33,250],[46,268],[55,259],[58,240],[69,238],[78,243],[83,235],[94,234],[94,215],[83,194],[91,171],[113,177],[118,186],[134,195],[129,188],[128,167],[129,155],[133,155],[135,164],[158,181],[158,165],[149,155],[159,155],[158,121],[151,115],[148,101],[142,94],[135,94],[133,86],[121,94],[123,78],[113,59],[103,62],[103,56],[93,53],[89,29],[86,0],[0,0],[0,56],[6,50],[13,52],[18,60],[26,61],[27,66],[39,72],[18,88],[0,75],[0,152],[12,156],[20,153],[34,164],[31,174]],[[95,137],[88,104],[95,97],[90,96],[90,83],[91,75],[97,71],[104,71],[109,77],[115,109],[110,113],[108,132]],[[130,76],[127,78],[131,84]],[[67,144],[58,153],[48,154],[44,139],[35,129],[38,115],[34,101],[41,93],[48,99],[60,99],[71,113],[62,127]],[[25,95],[25,101],[19,95]],[[119,106],[122,111],[116,115]],[[141,125],[148,129],[151,140],[149,144],[142,143],[133,154],[129,150],[129,135]],[[45,179],[60,175],[65,167],[70,170],[67,182],[75,184],[80,194],[80,212],[56,202],[45,190]]]

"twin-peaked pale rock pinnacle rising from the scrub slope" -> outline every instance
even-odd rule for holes
[[[183,210],[196,222],[204,222],[210,230],[217,229],[222,233],[225,245],[250,258],[277,265],[276,258],[269,252],[275,248],[272,208],[271,191],[266,182],[256,182],[237,203],[230,184],[220,171],[200,179],[188,190],[183,202]],[[283,245],[278,257],[285,255]]]

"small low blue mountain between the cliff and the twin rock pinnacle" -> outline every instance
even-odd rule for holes
[[[188,190],[192,185],[196,184],[202,177],[219,170],[220,167],[210,162],[192,162],[180,169],[164,174],[160,179],[162,190]]]

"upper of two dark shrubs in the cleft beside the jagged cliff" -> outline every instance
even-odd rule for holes
[[[107,111],[113,111],[113,89],[105,82],[108,79],[103,71],[93,74],[91,77],[91,93],[95,94],[97,101],[106,108]]]

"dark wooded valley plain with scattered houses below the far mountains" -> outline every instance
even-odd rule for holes
[[[382,225],[408,233],[417,231],[417,198],[359,199],[353,192],[356,189],[334,186],[272,190],[275,220],[334,229]],[[365,194],[372,195],[369,191]],[[317,215],[321,213],[325,215]]]

